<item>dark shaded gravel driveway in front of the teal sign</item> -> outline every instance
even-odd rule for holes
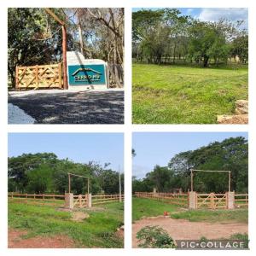
[[[38,124],[123,124],[124,91],[20,91],[13,103]]]

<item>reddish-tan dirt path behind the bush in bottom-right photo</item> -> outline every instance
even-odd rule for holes
[[[201,239],[202,236],[207,237],[207,239],[220,239],[228,238],[236,233],[244,234],[248,232],[248,225],[243,223],[189,222],[186,219],[165,218],[163,216],[143,218],[132,224],[133,247],[137,247],[137,232],[147,225],[159,225],[174,240]]]

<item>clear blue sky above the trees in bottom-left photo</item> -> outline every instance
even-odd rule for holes
[[[60,159],[78,163],[111,163],[113,171],[120,168],[123,172],[122,133],[9,133],[9,156],[39,152],[55,153]]]

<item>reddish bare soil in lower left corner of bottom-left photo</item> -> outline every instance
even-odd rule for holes
[[[35,236],[24,239],[25,230],[8,230],[9,248],[73,248],[74,242],[68,236]]]

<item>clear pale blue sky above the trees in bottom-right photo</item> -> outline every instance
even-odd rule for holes
[[[167,166],[175,154],[193,150],[229,137],[245,137],[246,132],[135,132],[132,136],[132,175],[145,177],[155,165]]]

